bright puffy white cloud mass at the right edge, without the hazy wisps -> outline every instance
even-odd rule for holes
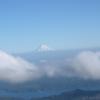
[[[74,69],[80,77],[100,79],[100,52],[82,52],[74,59]]]

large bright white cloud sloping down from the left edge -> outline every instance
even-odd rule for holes
[[[0,51],[0,80],[24,82],[38,75],[38,68],[33,64]]]

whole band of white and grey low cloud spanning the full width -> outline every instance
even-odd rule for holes
[[[62,63],[43,61],[34,65],[20,57],[0,51],[0,80],[13,83],[46,77],[76,77],[100,80],[100,52],[84,51]]]

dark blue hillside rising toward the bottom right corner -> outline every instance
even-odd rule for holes
[[[32,100],[100,100],[100,91],[75,90],[72,92],[64,92],[60,95]]]

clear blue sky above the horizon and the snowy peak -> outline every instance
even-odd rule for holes
[[[0,48],[27,52],[100,47],[100,0],[0,0]]]

